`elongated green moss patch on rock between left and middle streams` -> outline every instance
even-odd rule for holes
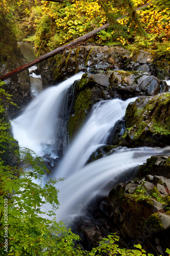
[[[70,138],[80,129],[86,113],[89,111],[91,106],[91,94],[89,89],[84,90],[79,94],[75,102],[75,112],[70,116],[68,120],[68,134]]]

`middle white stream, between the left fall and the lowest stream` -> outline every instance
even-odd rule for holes
[[[55,176],[68,177],[82,168],[92,152],[107,143],[115,123],[125,116],[128,104],[136,98],[112,99],[96,104],[83,128],[70,145],[66,156],[56,169]]]

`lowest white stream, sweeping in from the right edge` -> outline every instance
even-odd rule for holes
[[[60,202],[60,207],[56,211],[57,221],[64,220],[65,223],[70,223],[74,217],[84,215],[85,207],[94,196],[101,192],[102,196],[108,195],[109,188],[104,193],[102,188],[109,182],[112,181],[113,187],[123,178],[127,181],[128,172],[131,172],[131,178],[134,177],[134,167],[143,164],[152,155],[168,154],[169,150],[170,147],[120,147],[113,155],[96,160],[78,172],[70,174],[57,185]],[[50,209],[49,205],[44,207]]]

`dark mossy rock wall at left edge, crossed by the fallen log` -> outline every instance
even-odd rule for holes
[[[12,22],[5,16],[2,18],[1,15],[0,41],[0,74],[2,76],[26,64],[26,59],[23,58],[17,45],[17,38]],[[31,99],[29,71],[25,70],[20,74],[14,75],[5,82],[4,89],[13,96],[13,102],[20,109],[23,109]],[[10,116],[14,116],[18,110],[15,106],[10,105]]]

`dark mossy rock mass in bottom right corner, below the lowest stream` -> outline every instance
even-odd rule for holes
[[[161,179],[163,178],[162,176]],[[163,255],[165,249],[170,246],[170,216],[165,203],[167,198],[165,199],[159,190],[154,192],[157,185],[160,185],[160,179],[154,175],[146,177],[146,180],[148,179],[154,180],[155,184],[145,181],[145,178],[142,182],[135,179],[128,184],[118,184],[102,202],[101,209],[118,227],[125,240],[133,239],[128,246],[141,242],[147,252],[159,255],[161,251]],[[168,179],[165,180],[168,182]],[[170,196],[166,197],[170,200]],[[162,203],[157,199],[162,200]]]

